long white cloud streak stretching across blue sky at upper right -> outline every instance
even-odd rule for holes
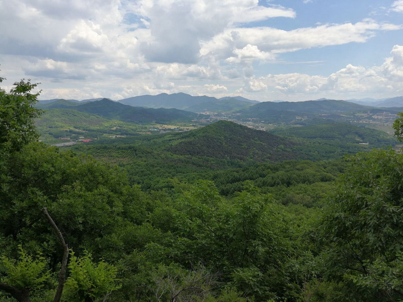
[[[323,24],[285,31],[272,27],[237,27],[226,29],[202,45],[204,54],[216,54],[228,58],[229,50],[256,47],[273,58],[275,54],[294,52],[301,49],[341,45],[351,42],[363,43],[380,30],[400,29],[399,25],[377,23],[364,19],[357,23]],[[249,46],[248,46],[249,45]],[[270,54],[270,55],[269,55]]]

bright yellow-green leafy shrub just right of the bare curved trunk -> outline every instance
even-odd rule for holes
[[[77,258],[71,252],[69,278],[65,283],[65,296],[69,301],[96,301],[120,288],[116,277],[117,269],[101,259],[94,263],[89,252]]]

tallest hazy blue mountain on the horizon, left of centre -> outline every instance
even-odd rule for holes
[[[121,99],[118,102],[131,106],[144,106],[148,108],[177,108],[186,109],[190,106],[217,101],[215,97],[206,95],[193,96],[186,93],[160,93],[158,95],[139,95]]]

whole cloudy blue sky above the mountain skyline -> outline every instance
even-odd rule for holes
[[[403,95],[403,0],[0,0],[0,28],[1,88],[39,99]]]

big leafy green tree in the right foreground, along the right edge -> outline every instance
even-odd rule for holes
[[[328,275],[362,299],[401,299],[403,156],[374,150],[349,162],[322,220]]]

